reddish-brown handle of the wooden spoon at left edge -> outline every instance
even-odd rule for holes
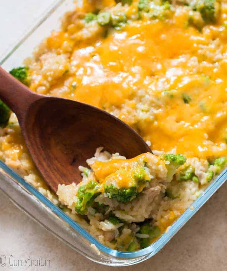
[[[0,67],[0,99],[17,115],[19,121],[23,120],[26,110],[40,96]]]

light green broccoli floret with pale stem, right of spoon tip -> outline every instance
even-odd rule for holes
[[[169,162],[166,164],[167,181],[171,181],[176,170],[186,162],[186,158],[182,154],[165,154],[162,159]]]

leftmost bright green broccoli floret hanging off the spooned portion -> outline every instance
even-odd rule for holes
[[[75,209],[78,214],[86,214],[87,207],[94,203],[94,199],[100,194],[99,184],[96,181],[90,181],[86,185],[81,185],[77,192],[77,202]]]

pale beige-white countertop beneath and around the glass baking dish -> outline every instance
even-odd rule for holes
[[[53,0],[0,0],[0,55],[25,31]],[[35,13],[35,15],[34,15]],[[3,38],[4,37],[4,38]],[[153,258],[130,270],[227,270],[227,183]],[[0,192],[0,270],[128,270],[95,264],[69,249],[17,209]],[[49,259],[51,267],[13,267],[13,259]],[[13,261],[11,261],[11,264]]]

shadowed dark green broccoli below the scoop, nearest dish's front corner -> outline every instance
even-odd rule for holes
[[[151,226],[149,221],[145,221],[140,224],[140,230],[138,231],[138,233],[149,235],[148,238],[138,238],[140,248],[144,249],[145,247],[150,245],[152,239],[160,235],[161,231],[160,228],[156,226]]]

